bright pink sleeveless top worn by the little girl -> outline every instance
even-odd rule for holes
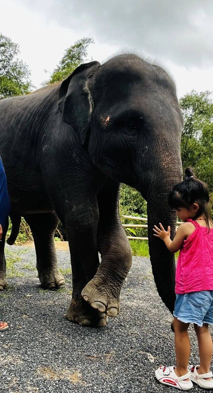
[[[195,231],[184,240],[176,267],[176,294],[213,290],[213,228],[187,219]]]

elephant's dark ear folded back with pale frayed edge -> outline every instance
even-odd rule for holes
[[[88,92],[84,86],[86,79],[100,66],[98,61],[81,64],[62,82],[59,90],[59,108],[63,118],[79,131],[82,144],[86,139],[90,110]]]

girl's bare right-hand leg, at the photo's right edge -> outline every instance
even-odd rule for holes
[[[211,366],[211,357],[213,351],[213,343],[211,334],[209,332],[208,323],[204,323],[202,327],[194,324],[194,329],[198,339],[200,367],[197,370],[198,374],[206,374],[209,372]],[[211,378],[205,378],[211,380]]]

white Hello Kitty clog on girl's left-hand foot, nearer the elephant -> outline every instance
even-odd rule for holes
[[[174,372],[174,366],[161,365],[155,371],[155,376],[161,384],[176,387],[176,389],[189,390],[193,387],[193,383],[190,380],[184,381],[184,379],[190,378],[190,371],[185,375],[177,376]]]

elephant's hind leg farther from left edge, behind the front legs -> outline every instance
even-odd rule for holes
[[[59,272],[54,244],[54,232],[59,219],[54,212],[34,213],[24,216],[32,231],[36,267],[43,288],[50,289],[64,285],[64,277]]]

